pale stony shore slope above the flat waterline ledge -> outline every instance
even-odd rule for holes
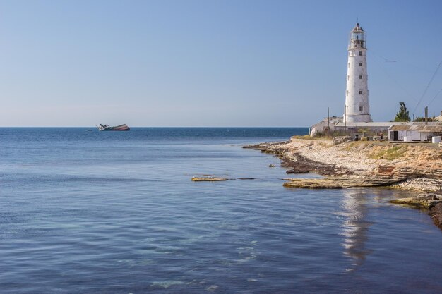
[[[386,141],[309,140],[246,145],[275,154],[287,173],[316,172],[336,178],[397,178],[392,188],[418,192],[441,192],[442,148],[437,145],[398,144]],[[392,156],[393,155],[393,156]]]

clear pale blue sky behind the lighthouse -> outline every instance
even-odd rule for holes
[[[442,61],[441,11],[442,1],[0,1],[0,126],[309,126],[327,107],[342,116],[357,20],[374,121],[400,101],[438,115],[442,66],[422,95]]]

